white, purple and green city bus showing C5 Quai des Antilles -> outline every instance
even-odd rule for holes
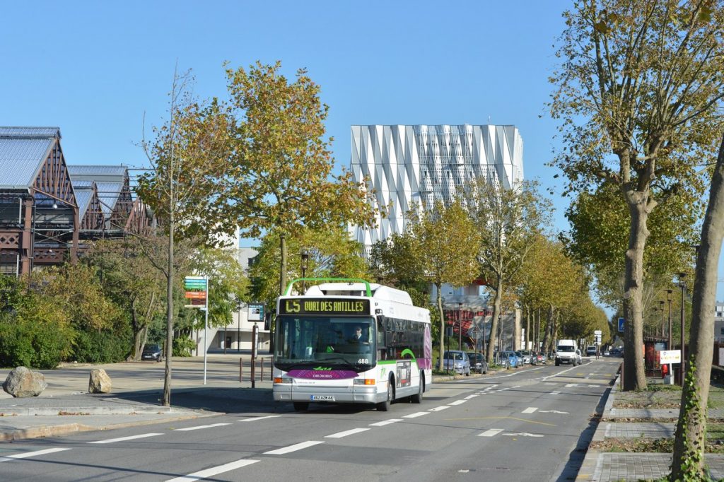
[[[292,285],[316,282],[301,295]],[[277,402],[421,403],[432,382],[430,313],[400,289],[361,279],[300,278],[277,300]]]

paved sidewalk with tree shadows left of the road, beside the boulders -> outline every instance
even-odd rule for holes
[[[243,382],[239,381],[239,358],[247,363]],[[209,354],[204,385],[202,357],[174,358],[171,407],[161,405],[164,363],[66,365],[43,370],[48,387],[38,397],[14,398],[0,390],[0,441],[258,410],[271,399],[271,372],[267,363],[266,381],[257,379],[256,389],[251,389],[248,359],[244,353]],[[111,377],[110,394],[88,393],[90,371],[96,368],[103,368]],[[8,373],[0,370],[1,381]]]

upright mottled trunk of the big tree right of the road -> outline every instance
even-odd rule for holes
[[[624,193],[631,213],[631,231],[626,251],[626,278],[623,291],[623,313],[626,317],[623,346],[624,390],[646,389],[646,371],[641,347],[644,346],[644,312],[641,306],[644,287],[644,247],[649,237],[648,191],[629,190]]]

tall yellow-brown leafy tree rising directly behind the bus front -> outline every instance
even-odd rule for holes
[[[231,109],[231,172],[216,206],[246,237],[279,237],[279,290],[287,280],[287,240],[304,227],[374,224],[371,194],[351,173],[333,175],[332,141],[324,140],[329,108],[305,69],[290,83],[281,62],[227,69]]]

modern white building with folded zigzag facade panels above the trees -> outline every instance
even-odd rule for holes
[[[471,179],[508,189],[523,180],[523,139],[513,125],[353,125],[351,140],[355,181],[368,179],[376,207],[392,203],[376,229],[350,227],[366,247],[403,232],[413,204],[448,203]]]

